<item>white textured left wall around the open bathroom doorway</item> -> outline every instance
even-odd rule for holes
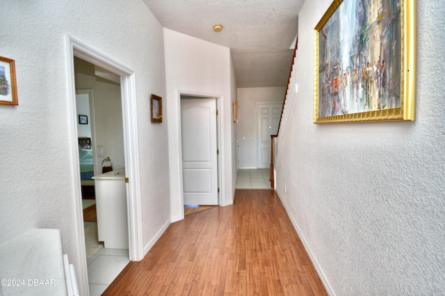
[[[70,34],[136,72],[143,243],[170,221],[167,123],[149,120],[165,96],[163,29],[143,1],[2,1],[0,53],[15,59],[19,105],[0,105],[0,241],[59,228],[79,272],[66,39]],[[83,276],[82,295],[86,295]]]

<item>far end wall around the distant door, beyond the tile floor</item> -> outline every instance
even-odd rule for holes
[[[238,88],[238,168],[258,167],[257,102],[283,103],[285,87]]]

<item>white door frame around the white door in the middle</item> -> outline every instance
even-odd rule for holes
[[[218,188],[220,192],[218,192],[218,205],[222,205],[222,198],[224,196],[224,183],[223,183],[223,171],[221,166],[221,156],[223,155],[223,146],[221,145],[222,141],[222,131],[221,127],[223,126],[223,122],[221,121],[223,118],[221,111],[221,95],[210,95],[204,93],[195,93],[190,91],[178,91],[178,104],[177,104],[177,116],[178,116],[178,164],[179,164],[179,198],[181,201],[181,212],[179,219],[184,219],[184,184],[182,182],[182,133],[181,133],[181,95],[187,95],[195,98],[215,98],[216,99],[216,108],[218,110],[218,116],[216,116],[216,147],[220,151],[217,157],[218,162]]]

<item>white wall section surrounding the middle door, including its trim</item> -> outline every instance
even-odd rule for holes
[[[229,48],[164,29],[172,221],[181,219],[179,92],[220,97],[223,205],[232,203],[232,90]]]

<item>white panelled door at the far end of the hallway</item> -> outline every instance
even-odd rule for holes
[[[258,168],[270,168],[270,135],[277,134],[282,104],[258,104]]]

